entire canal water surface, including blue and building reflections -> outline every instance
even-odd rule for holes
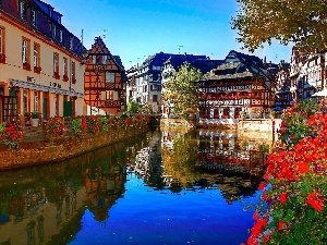
[[[0,244],[240,244],[254,222],[263,148],[233,132],[154,128],[0,172]]]

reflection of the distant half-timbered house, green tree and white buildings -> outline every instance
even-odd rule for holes
[[[234,132],[153,132],[129,169],[155,189],[217,188],[228,203],[253,195],[263,175],[258,145],[241,146]]]

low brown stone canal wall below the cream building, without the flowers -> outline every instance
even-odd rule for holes
[[[146,125],[117,127],[108,132],[88,133],[83,137],[68,136],[51,144],[39,138],[41,133],[34,130],[25,135],[19,150],[9,150],[3,143],[0,144],[0,171],[60,162],[118,142],[130,140],[147,131]]]

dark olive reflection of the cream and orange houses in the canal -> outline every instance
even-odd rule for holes
[[[124,193],[125,149],[116,144],[59,164],[1,172],[0,244],[68,244],[86,209],[108,219]]]

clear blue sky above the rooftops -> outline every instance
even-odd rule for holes
[[[241,50],[230,27],[235,0],[44,0],[63,14],[62,24],[81,37],[89,49],[101,36],[125,69],[148,56],[205,54],[222,60],[230,50]],[[278,63],[290,60],[291,47],[265,46],[254,53]]]

